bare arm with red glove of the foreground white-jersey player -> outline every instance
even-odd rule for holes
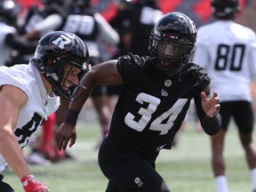
[[[20,178],[26,192],[47,192],[49,189],[36,180],[30,172],[13,132],[20,109],[27,103],[28,96],[18,87],[0,87],[0,152],[13,172]]]

